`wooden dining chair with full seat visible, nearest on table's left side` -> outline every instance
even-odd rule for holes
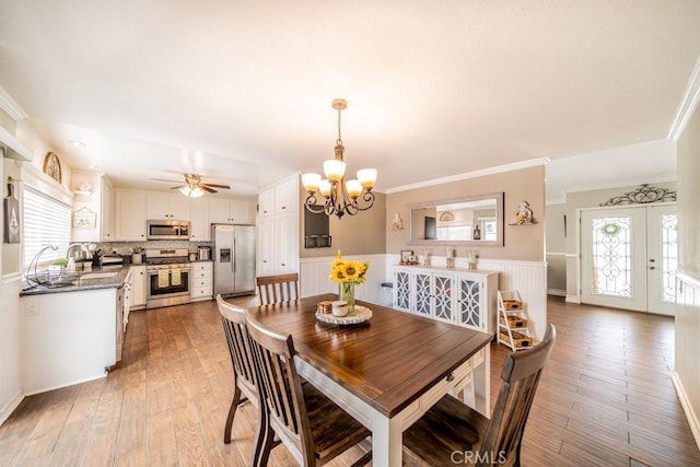
[[[258,365],[258,395],[268,420],[259,424],[264,440],[254,455],[265,466],[277,434],[302,466],[320,466],[370,436],[370,431],[310,383],[303,383],[294,364],[292,336],[266,327],[246,311],[248,331]],[[352,466],[372,458],[365,453]]]

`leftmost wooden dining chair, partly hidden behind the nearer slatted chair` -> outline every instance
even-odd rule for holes
[[[223,331],[226,336],[226,345],[231,354],[233,365],[233,399],[229,409],[229,417],[224,425],[223,442],[231,442],[231,427],[236,415],[236,408],[247,398],[255,407],[259,408],[257,393],[257,373],[255,367],[255,357],[250,346],[250,337],[245,323],[245,308],[233,305],[217,295],[217,305],[221,314]]]

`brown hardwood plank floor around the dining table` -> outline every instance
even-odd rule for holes
[[[674,320],[557,297],[548,313],[559,340],[525,430],[523,465],[700,465],[670,382]],[[246,465],[257,413],[244,405],[234,440],[223,444],[232,370],[215,302],[130,316],[121,366],[25,398],[0,427],[0,466]],[[491,346],[495,399],[508,349]],[[294,462],[281,445],[270,465]]]

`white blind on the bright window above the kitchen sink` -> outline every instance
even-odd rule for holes
[[[30,186],[25,185],[23,188],[24,268],[30,266],[42,248],[49,245],[58,246],[58,250],[44,252],[39,258],[42,264],[65,258],[70,243],[70,207]]]

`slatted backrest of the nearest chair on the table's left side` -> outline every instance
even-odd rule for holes
[[[248,331],[265,388],[261,397],[267,405],[270,424],[277,434],[292,443],[301,456],[298,460],[314,459],[315,446],[311,432],[301,377],[294,364],[294,345],[289,334],[277,332],[260,324],[246,312]],[[305,453],[305,455],[303,454]]]

